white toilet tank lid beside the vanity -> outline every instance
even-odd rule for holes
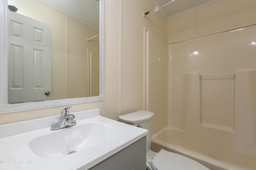
[[[125,123],[141,123],[152,119],[154,113],[150,111],[136,111],[125,115],[120,115],[119,118]]]

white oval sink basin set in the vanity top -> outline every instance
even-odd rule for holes
[[[87,123],[37,137],[30,149],[41,157],[65,156],[96,146],[111,139],[115,130],[103,123]]]

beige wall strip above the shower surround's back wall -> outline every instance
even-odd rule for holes
[[[223,32],[256,24],[255,0],[220,0],[167,20],[167,42]]]

